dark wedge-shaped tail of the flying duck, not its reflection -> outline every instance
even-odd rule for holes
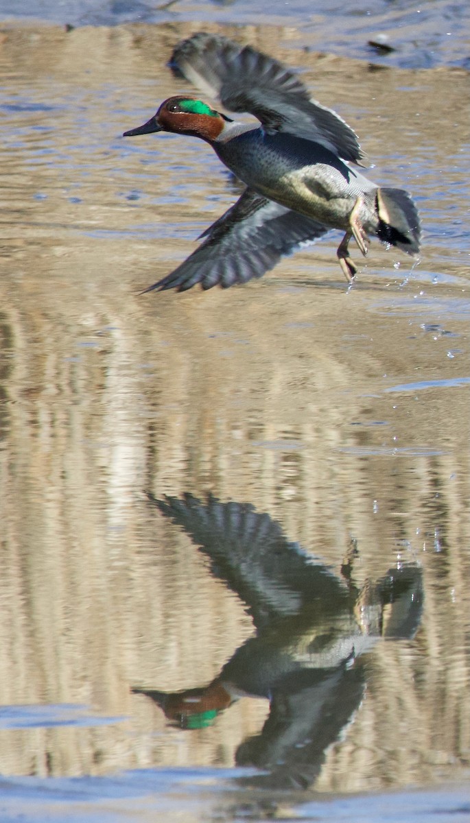
[[[378,188],[375,207],[379,217],[377,237],[407,254],[420,250],[421,227],[412,198],[403,188]]]

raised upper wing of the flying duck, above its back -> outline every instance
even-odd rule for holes
[[[357,135],[278,60],[221,35],[199,32],[176,45],[170,67],[233,112],[249,112],[268,133],[288,132],[361,164]]]

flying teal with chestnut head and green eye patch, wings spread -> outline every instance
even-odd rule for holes
[[[146,291],[203,289],[261,277],[285,254],[329,229],[345,232],[337,257],[348,281],[356,274],[352,237],[365,255],[369,235],[408,254],[420,248],[416,206],[401,188],[372,183],[356,133],[332,109],[310,100],[299,77],[268,55],[221,35],[198,33],[175,47],[170,66],[232,112],[240,123],[186,95],[170,97],[124,137],[173,132],[201,137],[246,184],[235,205],[201,235],[202,244]]]

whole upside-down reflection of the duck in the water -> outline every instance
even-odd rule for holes
[[[337,575],[288,542],[280,525],[251,504],[212,496],[206,503],[192,495],[149,498],[188,532],[209,558],[212,574],[245,603],[256,635],[203,688],[133,691],[154,700],[182,728],[209,725],[241,696],[266,698],[270,713],[263,730],[242,743],[236,763],[263,770],[255,782],[305,788],[361,703],[361,655],[380,637],[415,634],[423,602],[420,568],[390,569],[358,589],[353,544]]]

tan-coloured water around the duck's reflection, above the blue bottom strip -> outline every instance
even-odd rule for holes
[[[360,584],[398,556],[419,561],[421,629],[370,655],[365,700],[318,785],[458,777],[470,746],[468,74],[375,71],[298,50],[293,29],[228,30],[303,67],[360,134],[371,176],[412,190],[421,263],[411,272],[373,244],[348,292],[333,236],[244,287],[139,296],[235,198],[202,143],[119,137],[187,88],[165,62],[193,30],[1,35],[1,702],[128,719],[5,729],[0,771],[231,765],[261,727],[260,700],[181,732],[130,693],[206,683],[251,633],[150,489],[249,501],[336,571],[354,538]]]

